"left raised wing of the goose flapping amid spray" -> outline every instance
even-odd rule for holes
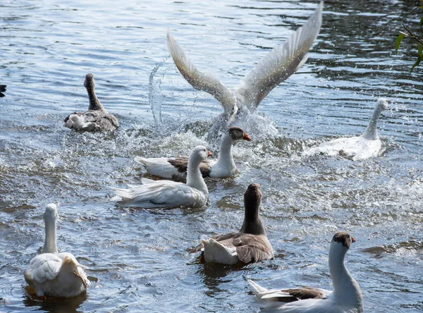
[[[212,94],[221,103],[225,113],[232,113],[235,101],[231,90],[228,90],[212,75],[204,74],[197,70],[194,63],[188,59],[188,56],[185,55],[185,52],[179,47],[178,42],[169,31],[167,32],[167,45],[173,62],[185,80],[195,89]]]

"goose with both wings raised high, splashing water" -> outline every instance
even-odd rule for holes
[[[240,85],[235,88],[234,92],[231,92],[212,75],[197,70],[168,30],[168,51],[180,74],[192,87],[208,92],[223,106],[223,113],[209,130],[208,140],[219,137],[217,134],[223,133],[231,125],[247,129],[245,128],[248,125],[247,122],[250,121],[250,117],[255,113],[264,97],[307,61],[307,52],[320,31],[322,10],[323,1],[320,2],[305,25],[299,27],[286,42],[272,49],[262,61],[259,61],[250,70],[250,73],[241,79]],[[265,121],[259,120],[258,124]],[[241,125],[243,123],[246,125]]]

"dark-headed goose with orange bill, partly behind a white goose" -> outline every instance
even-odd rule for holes
[[[217,161],[206,160],[200,164],[202,177],[228,177],[236,173],[235,162],[232,157],[232,146],[240,140],[251,141],[250,136],[239,127],[231,127],[223,135]],[[145,159],[135,157],[135,161],[142,164],[147,173],[173,180],[185,180],[188,166],[188,156],[176,156],[170,158]]]

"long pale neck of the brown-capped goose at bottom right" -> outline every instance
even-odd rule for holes
[[[357,281],[345,267],[344,258],[347,252],[342,243],[333,241],[329,249],[329,271],[333,283],[333,296],[341,298],[345,305],[362,307],[362,294]]]

